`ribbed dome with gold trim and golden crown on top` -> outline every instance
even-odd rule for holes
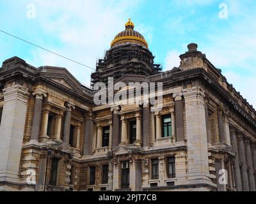
[[[134,31],[134,24],[132,23],[131,18],[129,18],[128,22],[125,24],[125,31],[122,31],[115,36],[114,40],[111,42],[111,47],[127,42],[137,43],[148,48],[148,43],[142,34]]]

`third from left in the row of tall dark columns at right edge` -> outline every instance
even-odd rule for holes
[[[248,175],[249,181],[248,182],[249,182],[249,186],[250,186],[250,191],[256,191],[250,140],[244,140],[244,149],[245,149],[246,164],[249,167],[249,175]]]

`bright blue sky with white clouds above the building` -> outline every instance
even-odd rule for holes
[[[227,18],[220,18],[221,5]],[[28,18],[31,5],[35,18]],[[188,43],[223,70],[256,107],[255,0],[0,0],[0,29],[95,68],[97,59],[132,18],[164,70],[179,66]],[[0,61],[17,55],[33,66],[61,66],[88,84],[92,70],[0,33]]]

